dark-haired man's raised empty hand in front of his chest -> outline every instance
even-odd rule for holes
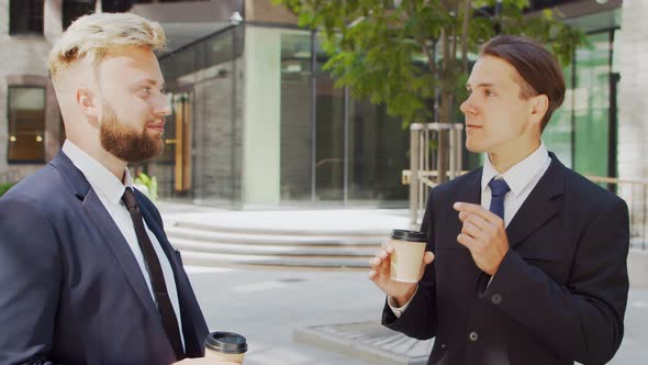
[[[504,221],[478,204],[456,202],[453,207],[463,223],[457,242],[470,251],[474,264],[482,272],[493,276],[509,252]]]

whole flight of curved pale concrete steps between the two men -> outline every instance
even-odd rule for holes
[[[165,221],[186,264],[368,268],[389,239],[391,212],[188,213]]]

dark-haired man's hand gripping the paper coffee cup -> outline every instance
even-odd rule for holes
[[[384,244],[376,256],[369,261],[371,265],[371,272],[369,272],[369,279],[384,291],[389,297],[394,300],[398,307],[403,307],[414,292],[416,291],[416,283],[401,283],[394,281],[390,277],[391,267],[391,254],[394,252],[393,246],[390,243]],[[418,274],[418,280],[423,277],[425,265],[434,261],[434,254],[427,251],[423,255],[423,262],[421,263],[421,270]]]

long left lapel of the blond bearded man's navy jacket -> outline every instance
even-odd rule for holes
[[[99,200],[97,192],[91,188],[88,179],[86,179],[83,174],[63,152],[58,153],[58,155],[51,162],[51,165],[62,172],[77,198],[82,201],[83,209],[87,212],[86,217],[88,217],[93,223],[97,232],[99,232],[103,239],[103,243],[108,245],[114,254],[126,279],[142,301],[145,310],[150,316],[159,316],[155,308],[155,303],[153,302],[146,280],[144,279],[144,274],[137,264],[131,247],[129,247],[129,243],[122,235],[122,232],[112,217],[110,217],[110,213],[105,210],[105,207],[103,207],[103,203],[101,203],[101,200]]]

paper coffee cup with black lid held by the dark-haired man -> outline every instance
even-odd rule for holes
[[[392,280],[417,283],[427,243],[427,234],[418,231],[393,230],[390,276]]]

